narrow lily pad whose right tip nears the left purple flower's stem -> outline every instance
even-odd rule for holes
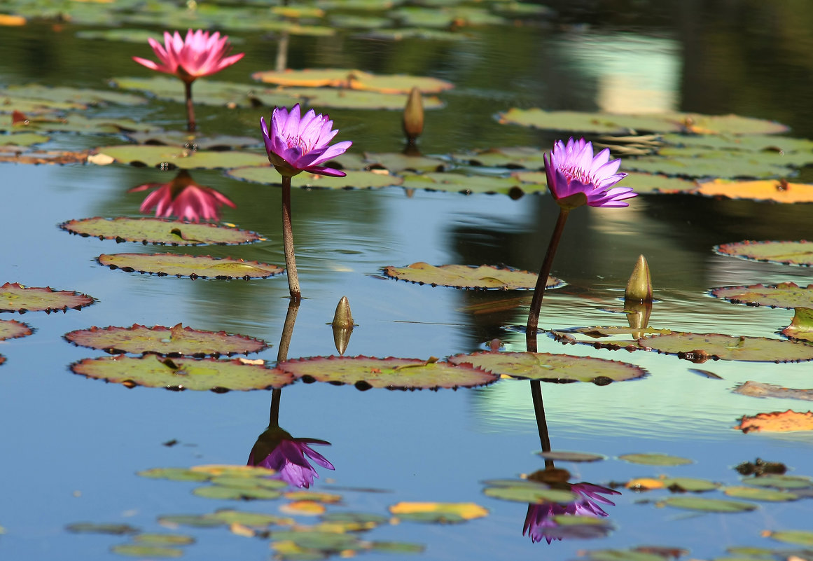
[[[282,267],[259,261],[244,261],[209,255],[179,255],[172,253],[101,254],[98,263],[124,272],[141,272],[158,276],[189,276],[194,279],[266,279],[285,271]],[[2,293],[0,293],[2,296]],[[2,302],[2,300],[0,300]]]

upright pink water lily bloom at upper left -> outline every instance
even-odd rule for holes
[[[189,29],[186,38],[181,38],[178,32],[171,35],[165,31],[163,45],[152,37],[149,41],[160,63],[137,56],[134,56],[133,60],[152,70],[178,76],[187,83],[191,83],[195,78],[220,72],[242,59],[245,54],[227,56],[232,50],[228,35],[221,37],[216,31],[210,35],[208,31],[202,29],[194,32]]]

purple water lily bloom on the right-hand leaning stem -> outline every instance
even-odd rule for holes
[[[610,150],[604,149],[593,157],[593,144],[580,138],[556,141],[554,149],[545,154],[548,189],[563,208],[628,207],[624,199],[633,198],[630,187],[614,187],[627,176],[617,173],[620,159],[610,161]],[[611,189],[612,188],[612,189]]]

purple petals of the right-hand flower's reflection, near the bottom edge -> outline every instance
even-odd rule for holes
[[[551,529],[559,528],[559,524],[553,520],[556,515],[579,515],[579,516],[592,516],[593,518],[602,518],[607,516],[607,513],[599,507],[596,502],[602,502],[606,505],[615,507],[615,502],[612,502],[601,494],[619,495],[618,491],[614,489],[607,489],[600,485],[593,485],[592,483],[575,483],[570,486],[570,491],[576,494],[576,500],[568,502],[566,505],[560,505],[555,502],[546,502],[543,504],[528,505],[528,515],[525,516],[525,524],[522,528],[522,535],[528,533],[531,541],[536,543],[543,539],[550,543],[553,540],[561,540],[562,537],[554,536],[551,534]]]

